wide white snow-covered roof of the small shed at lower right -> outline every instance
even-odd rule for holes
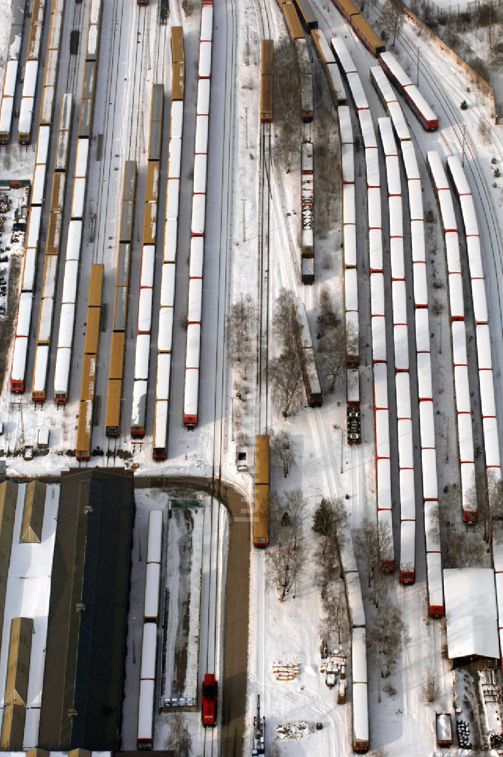
[[[489,568],[444,569],[449,659],[498,658],[494,573]]]

